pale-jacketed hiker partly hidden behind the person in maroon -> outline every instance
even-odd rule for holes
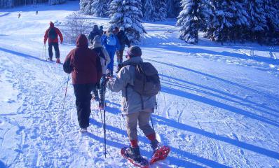
[[[100,57],[100,63],[102,65],[102,76],[106,76],[107,64],[109,64],[111,60],[109,57],[109,53],[102,46],[101,36],[95,36],[95,38],[93,39],[93,45],[91,45],[90,49],[94,50],[97,53],[97,55]],[[99,98],[98,90],[100,90],[100,98]],[[104,87],[100,87],[100,82],[98,82],[97,85],[93,88],[93,93],[94,93],[93,99],[95,99],[96,101],[100,100],[100,104],[99,104],[100,109],[104,109],[105,90]]]

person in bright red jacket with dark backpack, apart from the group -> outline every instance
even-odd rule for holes
[[[55,57],[56,57],[56,62],[60,63],[60,52],[59,52],[59,47],[58,47],[58,36],[60,37],[60,43],[63,43],[63,36],[61,34],[61,31],[57,28],[54,27],[53,22],[50,22],[50,27],[46,30],[43,43],[46,45],[46,41],[48,40],[48,56],[49,60],[53,60],[53,47],[55,50]]]

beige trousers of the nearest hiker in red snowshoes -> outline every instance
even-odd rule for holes
[[[137,122],[139,122],[139,127],[145,136],[154,134],[154,130],[149,125],[150,116],[152,109],[145,109],[137,113],[130,113],[126,116],[126,125],[128,137],[131,140],[137,139]]]

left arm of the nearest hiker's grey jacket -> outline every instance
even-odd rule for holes
[[[115,79],[109,80],[107,82],[107,87],[112,92],[119,92],[119,91],[125,89],[129,80],[130,80],[130,75],[129,75],[127,67],[125,67],[117,73],[117,76]]]

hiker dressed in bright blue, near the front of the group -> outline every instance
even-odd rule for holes
[[[114,72],[114,55],[115,52],[120,48],[118,38],[113,32],[113,28],[109,27],[107,29],[107,35],[102,37],[102,44],[104,48],[106,48],[107,52],[109,52],[109,57],[111,62],[109,62],[107,66],[108,76],[113,76]]]

